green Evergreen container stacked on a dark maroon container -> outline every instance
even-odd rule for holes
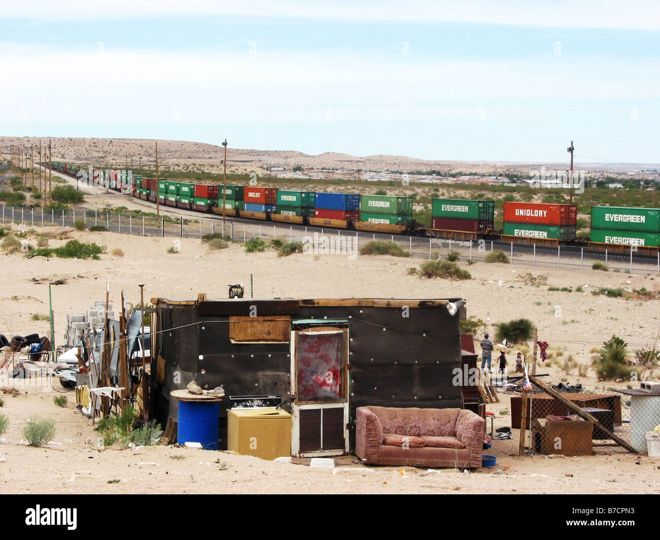
[[[494,227],[495,202],[456,198],[434,198],[431,227],[446,231],[483,233]]]

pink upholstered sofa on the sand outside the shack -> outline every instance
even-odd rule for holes
[[[356,424],[364,464],[481,466],[485,423],[467,409],[358,407]]]

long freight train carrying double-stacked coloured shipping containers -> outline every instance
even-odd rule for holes
[[[295,225],[350,229],[373,233],[431,236],[438,239],[479,240],[539,245],[574,245],[595,251],[657,255],[660,210],[593,206],[587,241],[577,238],[578,209],[574,204],[504,202],[504,227],[494,229],[494,200],[434,198],[430,227],[413,219],[409,196],[315,193],[252,185],[203,185],[123,177],[78,164],[53,162],[69,175],[82,173],[121,193],[183,210]],[[224,206],[224,210],[223,210]]]

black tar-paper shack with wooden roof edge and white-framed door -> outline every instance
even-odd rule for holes
[[[460,316],[447,310],[458,300],[154,298],[150,415],[176,419],[170,392],[191,380],[226,396],[280,395],[292,454],[350,452],[356,407],[462,407]]]

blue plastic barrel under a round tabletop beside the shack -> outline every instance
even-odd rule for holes
[[[218,450],[220,402],[179,402],[177,442],[199,442],[205,450]]]

